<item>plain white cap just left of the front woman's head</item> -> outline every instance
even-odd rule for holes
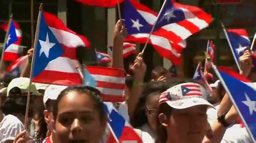
[[[44,98],[43,98],[44,106],[45,106],[45,103],[48,101],[48,99],[56,100],[60,92],[66,88],[67,86],[64,86],[64,85],[55,85],[55,84],[49,85],[44,92]]]

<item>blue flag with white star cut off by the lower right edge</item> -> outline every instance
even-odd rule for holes
[[[221,84],[230,96],[235,109],[237,109],[242,123],[244,123],[252,142],[256,139],[256,92],[255,88],[219,71],[215,66],[213,69],[220,79]]]

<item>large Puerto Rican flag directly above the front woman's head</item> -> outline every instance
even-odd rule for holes
[[[80,65],[76,58],[76,47],[90,47],[90,42],[69,30],[51,13],[39,13],[38,23],[32,81],[60,85],[81,84],[82,78],[76,69]]]

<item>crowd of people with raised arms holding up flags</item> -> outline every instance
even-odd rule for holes
[[[124,68],[125,35],[124,22],[119,20],[114,28],[112,67]],[[31,49],[30,57],[32,53]],[[246,51],[240,57],[240,74],[254,81],[251,55]],[[21,77],[11,80],[6,73],[1,75],[0,142],[104,142],[108,118],[99,90],[86,85],[30,84],[29,69],[28,63]],[[213,89],[208,92],[164,67],[153,69],[150,81],[144,81],[146,72],[143,53],[139,53],[132,72],[126,74],[124,102],[115,103],[143,142],[254,142],[218,80],[208,79]],[[26,103],[29,87],[31,100]]]

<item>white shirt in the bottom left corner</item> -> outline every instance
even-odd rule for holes
[[[0,142],[14,140],[23,130],[25,129],[21,120],[13,115],[5,116],[0,123]]]

